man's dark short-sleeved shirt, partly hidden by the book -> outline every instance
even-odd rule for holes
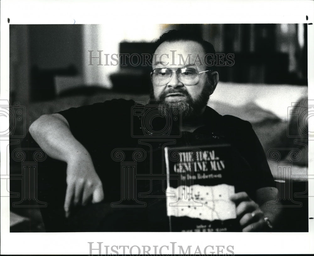
[[[156,228],[155,224],[154,227],[147,224],[150,223],[148,220],[145,224],[147,231],[166,231],[168,227],[166,209],[160,207],[165,205],[165,198],[160,197],[165,189],[165,179],[158,178],[158,175],[165,177],[163,158],[165,144],[191,146],[228,143],[234,149],[234,154],[237,156],[235,159],[238,159],[236,165],[239,168],[236,169],[234,176],[236,192],[246,191],[254,199],[258,188],[275,187],[263,147],[249,122],[229,115],[221,116],[206,106],[202,116],[204,126],[192,133],[180,133],[179,130],[171,127],[167,133],[167,129],[163,130],[167,122],[160,119],[152,126],[157,127],[157,131],[163,130],[164,135],[153,138],[143,132],[143,123],[147,121],[143,119],[149,117],[144,117],[143,112],[138,109],[145,106],[136,106],[136,110],[135,106],[132,100],[119,99],[70,108],[59,114],[67,119],[73,136],[89,151],[96,172],[103,182],[107,202],[123,201],[122,186],[126,178],[123,177],[123,168],[133,166],[137,177],[134,183],[131,182],[134,184],[131,189],[134,191],[135,201],[145,202],[151,206],[150,210],[146,212],[143,210],[142,214],[137,215],[141,216],[138,217],[139,222],[143,225],[145,223],[143,218],[149,218],[147,213],[154,212],[154,218],[159,216],[157,218],[161,223]],[[142,137],[139,136],[141,133]],[[119,159],[119,155],[113,155],[116,152],[114,150],[117,149],[124,151],[124,159]],[[137,149],[142,150],[145,157],[134,161],[132,152]],[[149,179],[147,178],[149,175],[156,178]],[[145,197],[143,193],[149,196]],[[134,223],[137,222],[134,221]],[[145,231],[145,229],[142,228],[140,231]]]

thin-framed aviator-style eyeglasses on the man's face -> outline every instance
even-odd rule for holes
[[[194,85],[199,81],[198,74],[207,71],[210,70],[196,72],[194,68],[178,68],[177,70],[172,70],[171,68],[155,68],[152,72],[152,82],[155,85],[163,86],[170,82],[172,73],[176,73],[177,78],[181,83],[184,85]]]

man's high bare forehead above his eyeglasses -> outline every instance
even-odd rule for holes
[[[198,58],[203,59],[205,51],[203,46],[195,41],[163,42],[157,47],[153,56],[153,65],[187,66],[193,65]]]

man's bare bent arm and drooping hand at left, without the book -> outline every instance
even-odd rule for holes
[[[103,200],[102,184],[89,152],[74,138],[62,115],[41,116],[30,126],[30,134],[47,155],[68,164],[64,203],[67,216],[72,205],[85,205],[91,197],[94,203]]]

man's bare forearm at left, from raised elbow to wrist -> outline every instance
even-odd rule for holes
[[[31,124],[30,134],[50,157],[57,160],[68,162],[78,155],[88,154],[60,114],[41,116]]]

